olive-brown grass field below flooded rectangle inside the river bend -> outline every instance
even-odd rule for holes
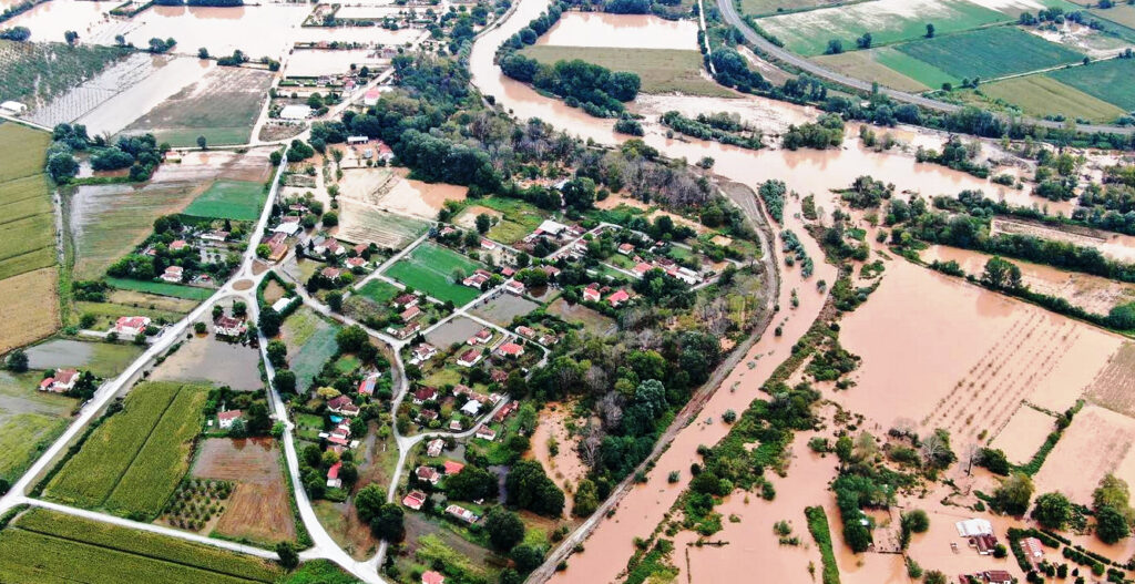
[[[637,73],[642,93],[733,96],[735,93],[701,76],[701,53],[681,49],[620,50],[603,46],[527,46],[522,54],[540,62],[582,59],[613,71]]]

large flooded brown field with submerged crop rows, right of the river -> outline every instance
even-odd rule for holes
[[[911,325],[918,323],[918,325]],[[1121,344],[1117,336],[894,261],[866,305],[843,320],[863,357],[857,386],[834,397],[875,430],[914,421],[964,445],[995,435],[1022,400],[1074,405]]]

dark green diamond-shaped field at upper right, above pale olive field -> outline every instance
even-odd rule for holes
[[[924,39],[896,49],[958,79],[994,79],[1084,59],[1076,51],[1012,26]]]

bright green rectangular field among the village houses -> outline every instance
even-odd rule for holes
[[[461,270],[465,276],[481,265],[449,248],[427,243],[414,247],[410,254],[386,271],[386,274],[417,290],[456,305],[471,302],[480,295],[468,286],[454,283],[454,270]]]

